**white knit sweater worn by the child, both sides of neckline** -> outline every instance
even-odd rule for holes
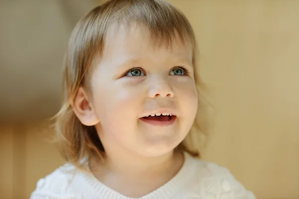
[[[166,184],[140,199],[255,199],[255,196],[214,163],[184,153],[180,171]],[[87,167],[88,168],[88,167]],[[132,199],[99,182],[92,174],[65,164],[37,182],[30,199]]]

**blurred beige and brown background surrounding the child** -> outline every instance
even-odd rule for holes
[[[194,27],[214,105],[204,159],[258,199],[299,199],[299,0],[170,0]],[[0,1],[0,199],[26,199],[64,161],[42,120],[60,105],[61,62],[97,0]]]

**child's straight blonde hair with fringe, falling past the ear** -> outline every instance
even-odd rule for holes
[[[203,84],[196,63],[194,32],[186,17],[165,0],[110,0],[87,13],[76,24],[64,60],[64,104],[55,115],[56,138],[67,161],[82,168],[83,157],[105,156],[94,126],[83,125],[75,115],[72,102],[80,87],[89,88],[90,73],[95,60],[103,56],[105,37],[115,23],[137,22],[148,28],[154,42],[171,45],[173,39],[188,39],[192,44],[195,83],[200,96]],[[186,138],[177,146],[192,156],[200,157],[201,141],[205,139],[204,105],[198,101],[198,113]]]

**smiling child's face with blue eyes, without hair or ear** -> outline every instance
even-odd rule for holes
[[[96,128],[107,151],[165,154],[184,139],[197,112],[191,44],[157,47],[142,27],[110,30],[91,85]],[[153,113],[175,116],[153,124],[145,117]]]

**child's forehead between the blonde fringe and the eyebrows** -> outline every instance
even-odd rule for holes
[[[165,38],[167,39],[167,37]],[[168,41],[156,39],[150,34],[149,29],[141,24],[113,25],[108,29],[105,38],[103,59],[115,59],[115,56],[118,58],[122,56],[150,58],[152,55],[156,58],[175,57],[192,60],[192,45],[188,39],[178,39],[174,32],[171,41]]]

